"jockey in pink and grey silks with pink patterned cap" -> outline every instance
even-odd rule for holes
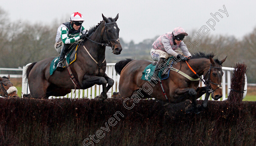
[[[165,33],[159,36],[156,41],[152,44],[150,51],[151,58],[157,61],[154,76],[151,78],[151,82],[154,80],[158,82],[158,72],[162,65],[165,65],[165,61],[168,57],[174,56],[176,60],[187,61],[187,57],[191,57],[187,46],[182,41],[187,33],[182,27],[176,27],[172,32]],[[180,48],[185,56],[175,52],[174,50]]]

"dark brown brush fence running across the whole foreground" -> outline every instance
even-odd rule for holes
[[[255,102],[209,101],[199,114],[184,112],[189,101],[123,102],[1,98],[0,145],[256,145]]]

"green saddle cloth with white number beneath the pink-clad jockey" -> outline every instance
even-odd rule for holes
[[[170,65],[170,61],[172,60],[173,57],[169,57],[168,60],[167,60],[167,63],[166,63],[166,67],[168,67]],[[141,79],[142,80],[146,80],[146,81],[150,81],[152,76],[153,76],[153,73],[155,71],[155,66],[156,65],[153,65],[152,63],[149,64],[145,69],[144,71],[142,72],[142,77]],[[166,68],[165,67],[165,68]],[[164,69],[163,69],[164,70]],[[163,73],[163,70],[160,70],[158,72],[158,78],[162,80],[162,73]]]

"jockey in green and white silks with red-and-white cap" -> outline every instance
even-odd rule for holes
[[[70,22],[63,23],[59,26],[55,38],[55,49],[60,53],[59,63],[56,68],[57,71],[62,71],[63,69],[62,61],[69,50],[70,44],[86,37],[86,30],[82,26],[83,22],[83,15],[75,12],[71,14]]]

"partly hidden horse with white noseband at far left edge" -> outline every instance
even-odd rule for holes
[[[10,75],[0,77],[0,97],[19,97],[17,88],[13,86],[9,79]]]

